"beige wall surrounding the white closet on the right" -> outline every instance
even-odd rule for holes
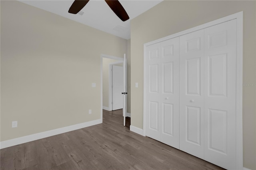
[[[143,128],[143,44],[244,11],[243,83],[255,84],[255,1],[164,1],[131,20],[131,125]],[[255,86],[243,88],[244,167],[256,169]]]

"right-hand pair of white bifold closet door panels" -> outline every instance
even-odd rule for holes
[[[180,36],[180,150],[236,169],[236,20]]]

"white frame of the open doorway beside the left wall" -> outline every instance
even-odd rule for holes
[[[102,64],[103,64],[103,58],[110,58],[110,59],[114,59],[114,60],[118,60],[118,61],[124,61],[124,58],[120,58],[120,57],[115,57],[115,56],[109,56],[109,55],[106,55],[106,54],[100,54],[100,104],[101,104],[101,109],[100,109],[100,119],[101,119],[101,122],[102,122],[102,119],[103,119],[103,85],[102,85],[102,78],[103,78],[103,74],[102,74]],[[109,96],[109,95],[108,95]]]

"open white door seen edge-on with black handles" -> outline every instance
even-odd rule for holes
[[[127,60],[126,55],[124,54],[123,62],[123,116],[124,116],[124,126],[125,126],[125,117],[127,112]]]

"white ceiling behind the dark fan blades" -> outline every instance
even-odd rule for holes
[[[162,0],[119,0],[130,17],[129,20],[123,22],[104,0],[90,0],[81,10],[84,12],[82,16],[68,13],[74,0],[19,1],[127,40],[130,39],[130,20],[162,2]]]

